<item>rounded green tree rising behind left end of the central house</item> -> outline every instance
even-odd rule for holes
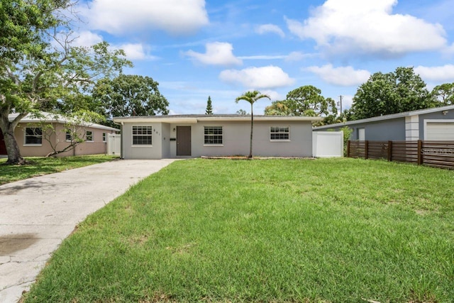
[[[169,102],[160,94],[159,83],[151,77],[119,75],[101,79],[94,86],[94,111],[110,121],[114,116],[155,116],[169,114]]]

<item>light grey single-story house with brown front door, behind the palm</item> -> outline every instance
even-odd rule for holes
[[[253,155],[311,157],[311,123],[320,119],[254,116]],[[249,155],[248,115],[131,116],[114,122],[121,125],[126,159]]]

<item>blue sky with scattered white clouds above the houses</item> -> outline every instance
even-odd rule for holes
[[[305,85],[351,106],[375,72],[414,67],[429,90],[454,82],[453,0],[81,0],[77,45],[102,40],[152,77],[170,114],[250,112]],[[254,105],[262,114],[268,99]]]

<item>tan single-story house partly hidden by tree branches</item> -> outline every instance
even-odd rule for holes
[[[10,114],[9,121],[13,121],[16,116],[18,114]],[[72,123],[69,119],[46,112],[41,112],[41,116],[37,118],[32,114],[28,114],[21,119],[14,130],[23,157],[45,157],[52,152],[51,143],[53,146],[57,146],[58,150],[70,144],[69,134],[65,131],[65,126],[68,123]],[[49,136],[45,133],[47,126],[52,126],[55,130]],[[79,127],[79,131],[84,131],[85,141],[79,143],[73,150],[58,154],[58,157],[104,154],[107,151],[107,134],[116,133],[118,129],[96,123],[86,123],[85,126]],[[1,130],[0,155],[7,155]]]

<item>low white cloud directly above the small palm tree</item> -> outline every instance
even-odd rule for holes
[[[219,74],[219,79],[231,84],[241,84],[248,89],[287,87],[295,82],[280,67],[272,65],[248,67],[244,70],[223,70]]]

